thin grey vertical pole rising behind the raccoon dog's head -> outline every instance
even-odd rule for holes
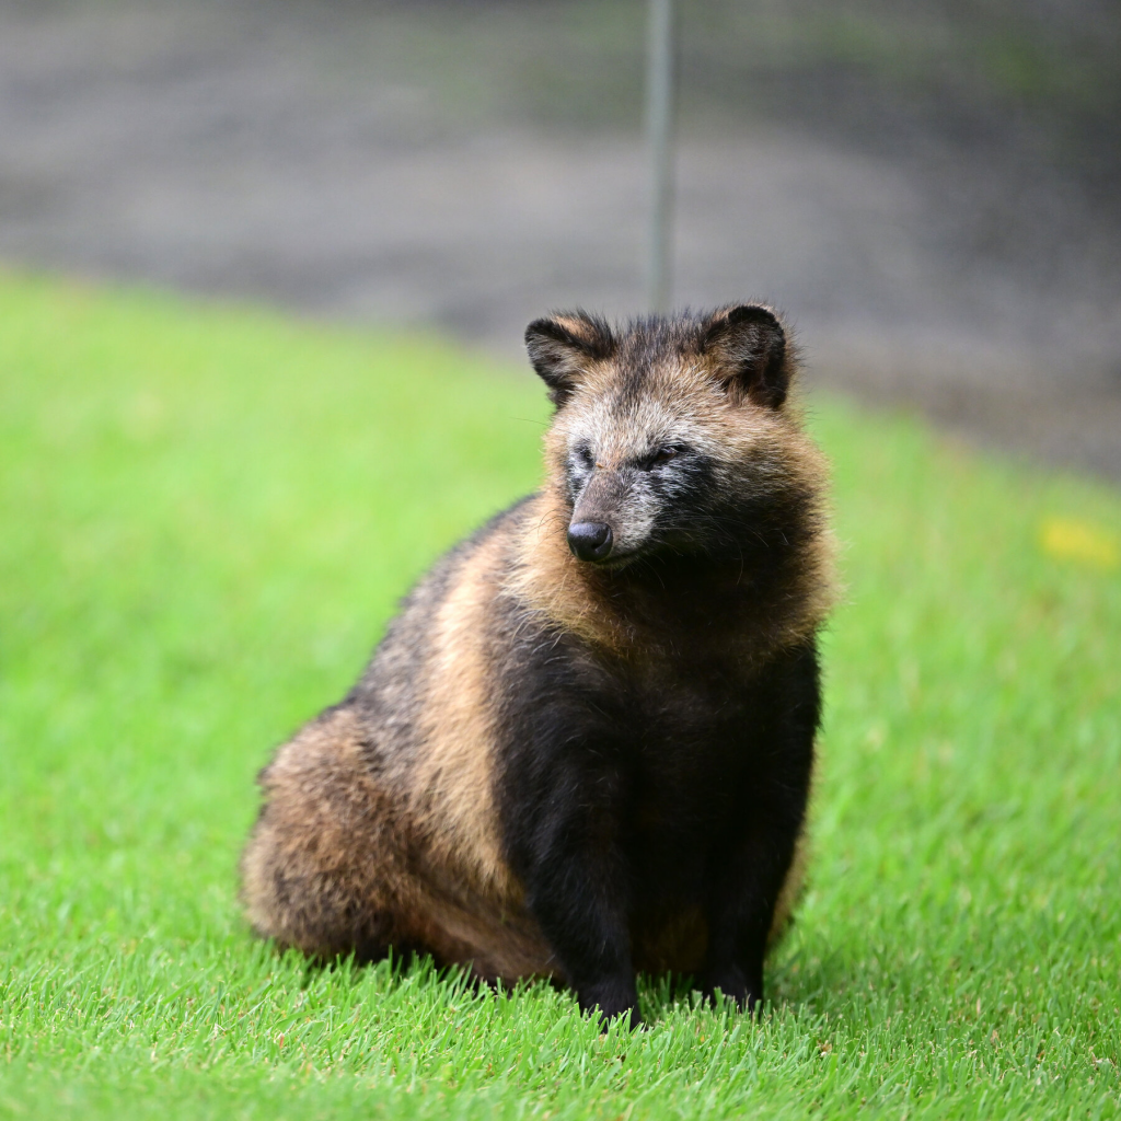
[[[650,232],[646,298],[656,315],[669,311],[674,240],[674,0],[650,0],[646,136],[650,159]]]

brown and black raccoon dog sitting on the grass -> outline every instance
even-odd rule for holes
[[[832,597],[825,470],[768,308],[538,319],[546,481],[405,601],[280,748],[263,936],[430,953],[639,1019],[636,971],[754,1008],[788,915]]]

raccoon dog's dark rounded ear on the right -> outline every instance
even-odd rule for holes
[[[786,332],[770,308],[740,304],[715,312],[701,349],[711,354],[729,393],[778,409],[786,400],[794,361]]]

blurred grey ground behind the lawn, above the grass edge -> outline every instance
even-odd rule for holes
[[[0,261],[436,327],[641,311],[645,0],[0,0]],[[1121,478],[1121,6],[680,0],[674,303]]]

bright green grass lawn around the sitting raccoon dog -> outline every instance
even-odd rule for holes
[[[235,901],[270,748],[534,485],[535,379],[18,277],[0,323],[0,1117],[1121,1117],[1115,492],[813,402],[849,597],[810,891],[761,1023],[655,981],[601,1037],[541,985],[308,970]]]

